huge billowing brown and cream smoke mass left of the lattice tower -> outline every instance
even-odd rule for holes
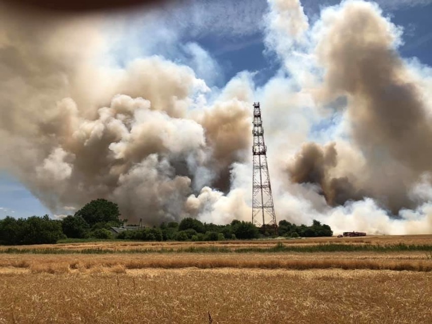
[[[157,56],[95,64],[106,46],[97,18],[2,9],[0,165],[53,213],[107,198],[130,222],[159,224],[188,214],[204,186],[230,187],[250,137],[236,91],[199,103],[209,89],[187,66]],[[198,104],[202,116],[190,113]],[[226,146],[230,136],[242,140]]]

